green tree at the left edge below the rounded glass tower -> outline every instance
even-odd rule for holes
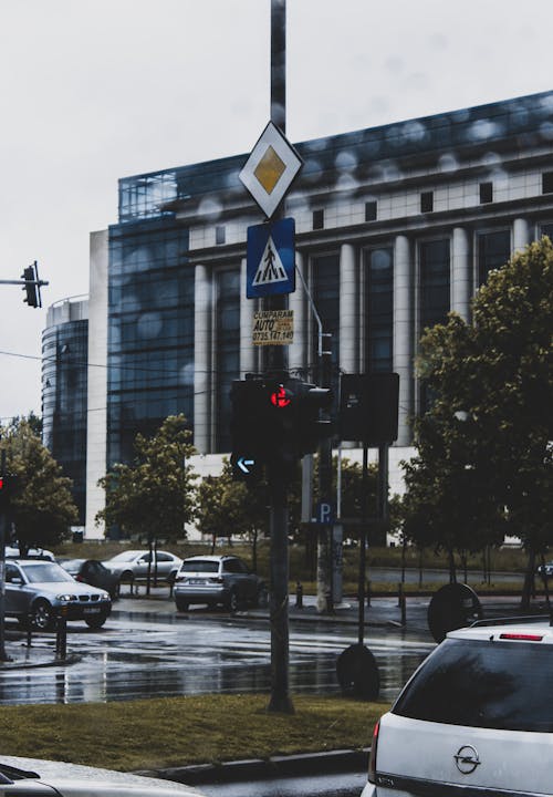
[[[32,546],[56,546],[79,520],[70,478],[45,448],[34,428],[36,416],[15,418],[1,429],[0,449],[14,484],[10,516],[22,555]]]

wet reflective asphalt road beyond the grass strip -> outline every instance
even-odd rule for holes
[[[301,623],[291,620],[290,627],[291,691],[340,693],[336,661],[343,650],[357,642],[356,625],[313,619]],[[100,631],[76,622],[67,628],[67,653],[77,661],[60,666],[0,669],[0,704],[270,692],[267,618],[201,611],[177,615],[174,610],[140,614],[118,608]],[[12,644],[24,645],[25,636],[19,634],[18,641],[15,627],[10,628],[10,635],[14,638]],[[427,631],[397,627],[367,628],[364,641],[376,656],[384,701],[396,696],[435,646]],[[55,634],[36,635],[33,645],[46,654],[52,651],[53,659]]]

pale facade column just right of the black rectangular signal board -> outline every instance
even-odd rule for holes
[[[394,247],[394,371],[399,374],[398,446],[411,443],[414,308],[413,257],[409,239],[397,236]]]

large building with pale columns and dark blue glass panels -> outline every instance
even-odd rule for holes
[[[315,379],[321,322],[334,385],[341,373],[399,374],[396,491],[410,421],[427,402],[414,366],[420,334],[450,311],[469,320],[490,270],[553,229],[553,92],[295,146],[303,167],[283,203],[299,272],[285,364]],[[267,363],[252,343],[260,303],[246,297],[247,231],[263,221],[239,179],[247,159],[125,177],[117,222],[91,236],[88,356],[105,369],[88,368],[88,493],[168,414],[186,415],[200,473],[229,453],[230,383]],[[87,504],[87,535],[103,534],[101,503]]]

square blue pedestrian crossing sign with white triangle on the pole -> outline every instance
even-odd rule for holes
[[[248,227],[248,299],[294,292],[294,235],[293,218]]]

